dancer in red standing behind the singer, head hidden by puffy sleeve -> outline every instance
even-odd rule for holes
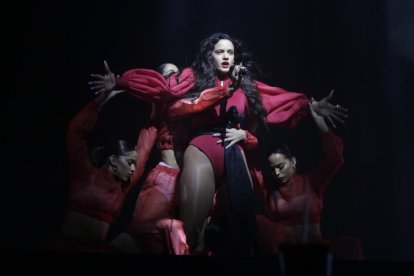
[[[165,78],[179,72],[171,63],[162,64],[158,70]],[[180,169],[163,106],[153,103],[150,118],[150,125],[157,127],[155,144],[160,162],[149,172],[140,189],[131,224],[111,242],[124,252],[134,252],[134,247],[128,246],[130,243],[136,243],[143,254],[183,255],[188,251],[182,222],[173,218]]]

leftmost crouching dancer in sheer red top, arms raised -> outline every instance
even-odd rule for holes
[[[69,210],[61,232],[49,242],[49,250],[113,250],[104,240],[125,197],[143,173],[145,157],[151,150],[151,146],[140,144],[134,148],[118,140],[97,147],[93,153],[94,162],[89,158],[87,138],[99,111],[120,92],[101,93],[69,124],[66,136],[70,165]],[[155,137],[155,134],[154,128],[148,128],[141,136]]]

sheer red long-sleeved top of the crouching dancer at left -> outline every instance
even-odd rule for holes
[[[98,118],[99,104],[92,101],[70,122],[67,136],[67,153],[70,166],[69,208],[97,220],[113,223],[118,216],[124,199],[142,175],[146,160],[152,148],[151,141],[156,129],[148,127],[140,133],[136,146],[136,170],[131,183],[117,181],[106,166],[95,167],[90,159],[87,137]]]

